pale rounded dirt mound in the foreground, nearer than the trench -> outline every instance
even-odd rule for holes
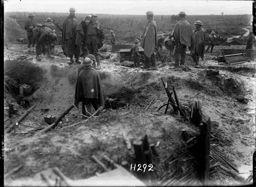
[[[5,172],[23,165],[23,169],[12,177],[33,177],[44,169],[58,167],[71,179],[84,179],[95,172],[103,172],[98,164],[91,161],[92,155],[100,158],[105,154],[117,163],[125,159],[130,164],[134,163],[134,150],[127,150],[122,138],[124,132],[131,141],[141,133],[148,135],[150,143],[160,141],[156,149],[164,160],[184,146],[181,136],[184,128],[193,135],[199,133],[194,126],[158,112],[107,111],[79,128],[66,128],[18,142],[7,142],[5,146],[12,149],[6,151]]]

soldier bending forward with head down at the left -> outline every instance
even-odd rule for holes
[[[45,27],[44,25],[37,24],[37,27],[33,29],[33,35],[36,41],[36,59],[42,59],[39,57],[39,55],[41,54],[42,48],[44,46],[47,46],[47,56],[49,58],[54,58],[50,54],[50,46],[53,45],[53,42],[57,40],[55,30],[52,31],[51,29]]]

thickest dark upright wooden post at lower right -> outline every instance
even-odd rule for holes
[[[200,154],[198,156],[199,162],[199,178],[203,185],[208,185],[209,172],[210,172],[210,118],[200,123],[200,137],[199,137],[199,149]]]

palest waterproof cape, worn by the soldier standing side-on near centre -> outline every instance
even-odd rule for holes
[[[146,28],[141,37],[141,47],[144,49],[144,54],[150,58],[157,49],[157,24],[152,18],[148,20]]]

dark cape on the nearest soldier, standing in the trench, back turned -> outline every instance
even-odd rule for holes
[[[79,73],[76,80],[75,90],[75,106],[83,98],[95,98],[100,101],[100,105],[104,108],[103,87],[99,73],[91,66],[85,66]]]

